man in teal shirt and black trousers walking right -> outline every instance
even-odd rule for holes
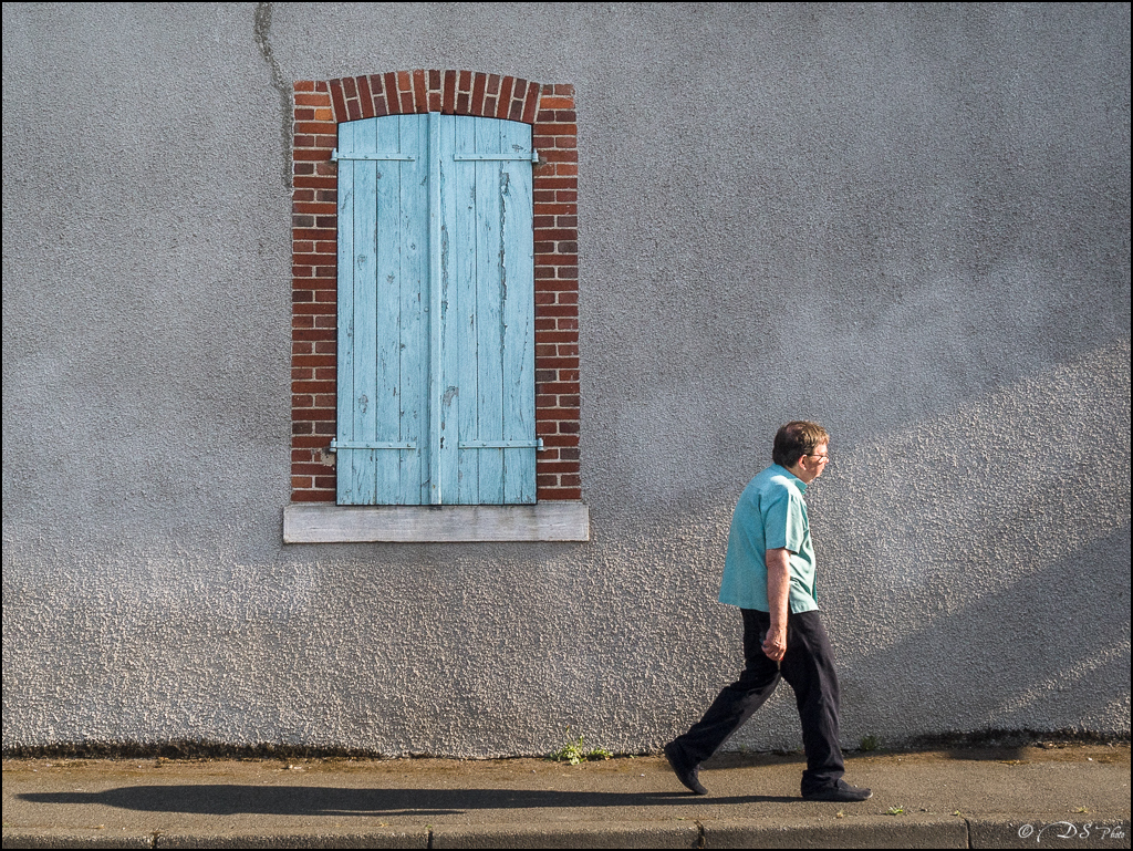
[[[763,706],[781,678],[794,689],[802,722],[802,797],[853,802],[872,794],[842,780],[838,680],[815,597],[803,493],[826,469],[829,441],[817,423],[787,423],[775,435],[774,463],[751,479],[736,503],[719,602],[743,614],[743,673],[689,732],[665,746],[678,780],[697,794],[708,793],[698,776],[700,763]]]

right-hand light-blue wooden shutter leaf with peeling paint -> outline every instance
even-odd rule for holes
[[[531,128],[441,122],[441,501],[535,502]]]

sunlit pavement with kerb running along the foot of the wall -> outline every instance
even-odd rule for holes
[[[864,803],[804,802],[798,756],[3,763],[5,848],[1130,848],[1130,747],[852,755]]]

